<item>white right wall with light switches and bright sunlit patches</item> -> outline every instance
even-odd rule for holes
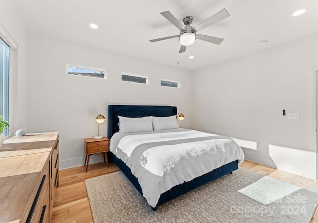
[[[248,160],[316,178],[317,50],[314,35],[195,71],[193,127],[238,139]]]

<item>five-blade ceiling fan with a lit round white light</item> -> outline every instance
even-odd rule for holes
[[[224,39],[214,37],[214,36],[206,36],[206,35],[197,34],[197,32],[230,16],[229,12],[225,8],[223,8],[221,11],[215,13],[210,18],[206,19],[205,21],[201,22],[197,26],[193,27],[190,25],[193,20],[192,16],[185,16],[183,18],[183,23],[185,25],[183,26],[171,14],[170,11],[164,11],[164,12],[161,12],[160,14],[163,15],[163,17],[165,17],[166,19],[168,19],[175,27],[180,29],[180,34],[174,35],[174,36],[162,37],[159,39],[152,39],[149,41],[157,42],[157,41],[161,41],[165,39],[172,39],[172,38],[179,37],[180,43],[181,43],[179,53],[185,52],[186,47],[192,45],[195,39],[201,39],[203,41],[207,41],[207,42],[215,43],[219,45]]]

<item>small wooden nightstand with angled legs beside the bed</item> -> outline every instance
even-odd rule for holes
[[[86,165],[86,160],[87,160],[86,172],[88,168],[89,157],[96,153],[103,153],[104,162],[105,162],[105,154],[106,154],[107,165],[109,167],[109,162],[107,158],[107,152],[109,152],[109,139],[107,137],[103,137],[101,139],[85,138],[84,142],[85,142],[85,154],[86,154],[84,166]]]

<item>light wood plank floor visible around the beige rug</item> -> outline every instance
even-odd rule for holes
[[[318,180],[300,177],[247,160],[239,167],[318,193]],[[61,170],[52,223],[93,223],[84,180],[118,170],[114,163],[111,163],[108,168],[103,162],[90,164],[87,173],[84,166]],[[318,223],[318,210],[315,212],[312,223]]]

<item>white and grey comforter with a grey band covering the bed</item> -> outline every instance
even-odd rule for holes
[[[234,160],[244,160],[243,151],[231,138],[180,128],[115,133],[110,151],[138,178],[143,196],[152,207],[172,187]]]

